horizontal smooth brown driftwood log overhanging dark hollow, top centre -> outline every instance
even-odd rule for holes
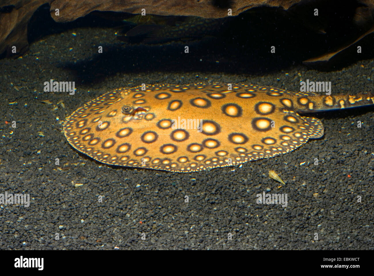
[[[227,9],[232,15],[259,6],[288,9],[301,0],[52,0],[51,16],[56,22],[69,22],[94,11],[146,13],[153,15],[194,15],[204,18],[222,18]],[[54,10],[60,9],[60,16]]]

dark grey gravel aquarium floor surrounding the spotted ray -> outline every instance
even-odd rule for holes
[[[314,114],[324,137],[291,153],[186,174],[95,162],[68,144],[61,124],[102,93],[141,83],[297,91],[300,79],[314,79],[331,81],[332,93],[373,91],[373,60],[331,72],[294,65],[234,74],[221,60],[183,64],[175,53],[183,55],[183,47],[170,57],[165,49],[175,46],[121,45],[112,30],[81,28],[32,43],[22,58],[0,60],[0,193],[28,193],[31,201],[0,206],[0,249],[374,249],[373,107]],[[75,81],[75,95],[44,92],[50,79]],[[287,194],[288,206],[257,204],[263,191]]]

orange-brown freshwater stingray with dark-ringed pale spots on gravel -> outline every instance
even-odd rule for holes
[[[373,105],[374,93],[319,95],[252,84],[117,88],[63,123],[69,144],[98,162],[170,172],[235,166],[324,135],[324,110]]]

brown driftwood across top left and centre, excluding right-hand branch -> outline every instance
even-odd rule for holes
[[[0,54],[7,51],[7,56],[17,54],[28,48],[27,24],[38,7],[48,3],[50,13],[56,22],[70,22],[88,13],[113,11],[154,15],[195,15],[205,18],[227,16],[227,9],[232,15],[258,6],[282,7],[288,9],[300,0],[1,0],[0,3]],[[56,15],[59,9],[59,15]]]

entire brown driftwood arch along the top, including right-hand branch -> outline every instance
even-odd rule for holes
[[[357,8],[353,11],[355,16],[351,23],[357,28],[357,34],[332,52],[305,61],[306,64],[328,62],[358,40],[374,32],[374,0],[355,0],[355,2]],[[6,52],[7,56],[17,56],[28,49],[27,24],[33,13],[43,4],[50,5],[50,15],[56,22],[70,22],[92,11],[139,14],[142,9],[145,9],[148,15],[222,18],[228,16],[228,9],[231,9],[232,15],[235,16],[260,6],[288,10],[290,14],[303,21],[305,14],[309,15],[310,10],[313,10],[318,3],[332,3],[338,5],[340,10],[344,10],[345,7],[344,1],[340,3],[335,0],[1,0],[0,55]],[[331,12],[336,12],[336,9],[334,10]],[[324,33],[324,26],[319,25],[318,20],[304,20],[303,24],[312,30]],[[16,46],[16,53],[12,53],[13,46]]]

